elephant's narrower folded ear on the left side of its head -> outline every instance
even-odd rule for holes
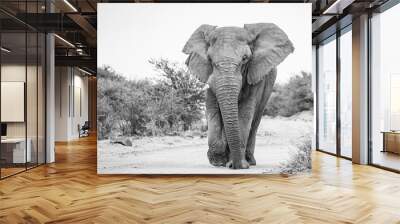
[[[186,65],[197,78],[202,82],[207,82],[209,75],[212,72],[211,63],[207,57],[208,36],[214,31],[216,26],[201,25],[192,34],[183,48],[183,53],[188,54]]]

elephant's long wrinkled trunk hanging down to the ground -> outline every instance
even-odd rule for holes
[[[224,72],[216,78],[215,94],[220,107],[225,129],[226,140],[232,156],[233,168],[244,158],[241,149],[238,97],[241,89],[242,76],[235,72]]]

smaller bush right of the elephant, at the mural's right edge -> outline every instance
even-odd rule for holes
[[[290,78],[286,84],[275,84],[264,115],[290,117],[312,110],[313,102],[311,74],[302,72],[301,75]]]

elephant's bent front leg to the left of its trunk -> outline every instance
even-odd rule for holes
[[[229,147],[226,141],[217,99],[210,89],[206,92],[206,109],[208,123],[208,160],[214,166],[225,166],[229,159]]]

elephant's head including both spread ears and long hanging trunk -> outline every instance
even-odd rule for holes
[[[201,25],[184,46],[187,66],[215,93],[233,168],[247,168],[238,118],[242,87],[256,85],[293,50],[287,35],[271,23],[244,28]]]

